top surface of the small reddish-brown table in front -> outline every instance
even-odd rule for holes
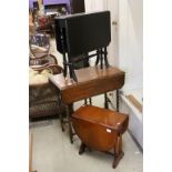
[[[129,117],[124,113],[93,105],[83,105],[79,108],[72,117],[81,121],[84,120],[89,123],[100,124],[120,133],[124,133],[129,122]]]

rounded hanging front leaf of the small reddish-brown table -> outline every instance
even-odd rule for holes
[[[108,151],[117,143],[118,132],[109,128],[77,118],[72,118],[72,123],[81,141],[94,150]],[[109,134],[107,130],[111,133]]]

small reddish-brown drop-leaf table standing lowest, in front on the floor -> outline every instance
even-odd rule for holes
[[[114,149],[113,168],[115,168],[123,156],[122,133],[127,131],[129,115],[83,105],[72,114],[72,123],[82,142],[79,153],[84,152],[85,145],[99,151]]]

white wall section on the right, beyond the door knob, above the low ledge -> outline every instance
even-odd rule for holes
[[[127,72],[124,89],[142,87],[143,1],[119,1],[119,67]]]

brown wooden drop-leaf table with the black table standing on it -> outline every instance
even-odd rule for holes
[[[73,102],[88,99],[94,95],[117,90],[117,111],[119,109],[119,92],[124,84],[124,72],[115,67],[101,69],[99,65],[75,70],[78,82],[63,74],[55,74],[49,78],[50,83],[58,90],[58,103],[67,104],[67,117],[69,121],[69,132],[71,143],[73,142],[72,128],[70,123],[69,105]],[[108,100],[105,97],[105,104]],[[108,105],[105,105],[108,107]],[[63,118],[60,114],[60,121],[63,129]]]

